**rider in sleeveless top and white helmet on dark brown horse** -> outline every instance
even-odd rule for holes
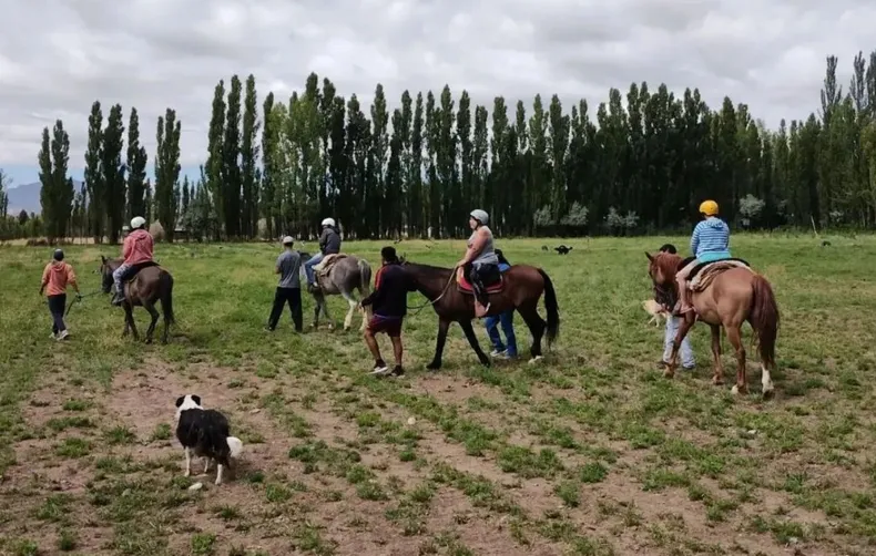
[[[486,210],[476,208],[469,213],[468,224],[471,237],[468,238],[466,256],[457,266],[462,267],[466,278],[475,290],[475,315],[483,317],[490,310],[490,300],[487,286],[498,281],[499,257],[496,255],[492,241],[492,230],[487,227],[490,217]]]

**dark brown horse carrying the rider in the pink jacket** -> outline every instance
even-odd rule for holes
[[[122,264],[122,259],[108,259],[101,256],[101,277],[102,289],[104,294],[109,294],[113,285],[112,274]],[[134,325],[133,309],[141,306],[149,311],[152,317],[152,322],[146,330],[146,343],[152,343],[152,334],[155,331],[155,325],[159,322],[159,311],[155,309],[155,303],[161,302],[161,311],[164,313],[164,333],[162,334],[161,342],[167,343],[167,330],[174,323],[173,319],[173,277],[161,268],[160,266],[152,266],[141,269],[133,280],[124,288],[124,332],[122,337],[134,333],[134,339],[139,340],[140,334]]]

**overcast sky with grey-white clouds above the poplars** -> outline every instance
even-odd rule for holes
[[[156,119],[174,107],[194,174],[213,87],[234,73],[255,74],[259,104],[310,71],[365,102],[377,82],[394,104],[449,83],[488,107],[537,92],[598,103],[645,80],[699,86],[713,106],[730,95],[775,126],[817,110],[827,54],[845,84],[876,48],[867,0],[0,0],[0,167],[19,184],[37,179],[55,119],[81,177],[95,99],[140,111],[150,172]]]

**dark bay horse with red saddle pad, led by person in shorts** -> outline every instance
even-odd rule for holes
[[[462,291],[456,281],[456,269],[440,268],[427,265],[403,262],[412,286],[426,296],[438,315],[438,339],[435,346],[435,357],[427,365],[429,370],[441,368],[441,356],[447,341],[447,330],[456,321],[462,328],[468,343],[477,353],[480,362],[490,365],[490,358],[480,349],[478,337],[471,326],[475,319],[475,297],[469,289]],[[546,336],[550,346],[560,332],[560,315],[557,305],[557,294],[544,270],[529,265],[515,265],[502,272],[501,287],[487,288],[490,298],[490,310],[487,316],[500,315],[508,310],[517,312],[526,321],[532,333],[530,362],[541,359],[541,338]],[[538,303],[542,292],[544,306],[548,310],[548,321],[539,316]],[[425,306],[424,306],[425,307]]]

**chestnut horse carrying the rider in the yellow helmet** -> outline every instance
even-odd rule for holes
[[[682,258],[670,253],[648,256],[651,280],[659,294],[662,294],[670,306],[679,299],[679,287],[675,274],[682,265]],[[745,377],[745,348],[742,344],[742,325],[747,320],[757,338],[761,354],[761,383],[763,395],[773,393],[773,380],[770,371],[775,370],[775,341],[778,332],[778,306],[773,288],[763,276],[748,268],[735,267],[717,274],[702,291],[691,292],[694,311],[687,312],[679,327],[672,342],[672,356],[666,364],[665,375],[672,378],[678,365],[679,348],[687,331],[697,320],[712,328],[712,354],[714,372],[712,382],[724,383],[724,369],[721,365],[721,328],[726,330],[727,339],[736,351],[736,384],[732,392],[746,393],[748,383]]]

